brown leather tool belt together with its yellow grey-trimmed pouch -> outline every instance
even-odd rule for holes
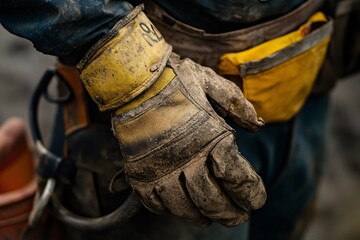
[[[332,21],[315,14],[322,4],[307,1],[280,18],[220,34],[181,23],[153,2],[146,11],[174,52],[234,81],[269,123],[294,117],[311,93],[332,33]]]

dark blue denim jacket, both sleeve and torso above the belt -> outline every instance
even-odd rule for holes
[[[175,18],[209,32],[225,32],[284,14],[305,0],[155,0]],[[83,54],[141,1],[7,0],[0,23],[45,54]],[[87,48],[86,48],[87,47]]]

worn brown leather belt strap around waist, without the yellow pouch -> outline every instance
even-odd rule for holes
[[[319,10],[323,3],[324,0],[309,0],[279,18],[220,34],[206,33],[182,23],[152,1],[147,3],[145,11],[166,41],[173,46],[174,52],[216,69],[224,53],[240,52],[293,31]]]

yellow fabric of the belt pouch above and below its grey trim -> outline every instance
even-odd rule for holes
[[[240,75],[241,64],[261,60],[306,37],[312,22],[325,22],[322,13],[314,14],[297,31],[270,40],[252,49],[225,54],[219,65],[223,75]],[[282,122],[302,108],[322,66],[330,37],[311,49],[265,71],[242,78],[245,97],[265,122]]]

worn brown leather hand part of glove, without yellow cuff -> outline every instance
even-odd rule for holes
[[[155,213],[202,226],[212,220],[238,225],[264,204],[266,193],[218,114],[249,130],[264,123],[241,90],[210,68],[175,54],[168,66],[176,77],[165,89],[112,117],[127,181]]]

